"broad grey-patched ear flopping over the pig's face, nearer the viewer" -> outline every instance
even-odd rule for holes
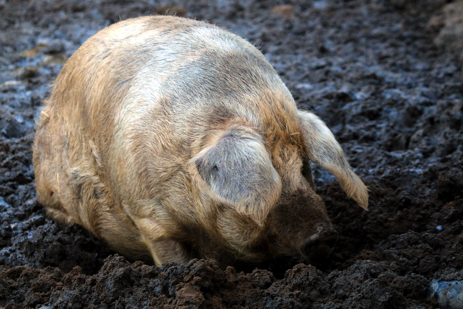
[[[261,224],[280,198],[282,182],[255,132],[217,132],[209,147],[190,160],[213,198],[233,205]]]

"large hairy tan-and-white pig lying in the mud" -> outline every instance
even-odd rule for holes
[[[310,162],[367,209],[325,123],[298,110],[252,44],[174,16],[89,38],[54,82],[33,164],[47,213],[130,259],[260,263],[338,238]]]

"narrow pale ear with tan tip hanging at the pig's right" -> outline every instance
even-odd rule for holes
[[[352,171],[344,151],[333,133],[316,115],[298,111],[300,130],[303,135],[307,157],[336,176],[344,192],[363,209],[368,209],[368,189]]]

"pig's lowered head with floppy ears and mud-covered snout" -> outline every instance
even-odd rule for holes
[[[338,177],[347,195],[367,209],[367,188],[332,132],[312,113],[299,111],[297,117],[299,131],[271,143],[245,125],[213,132],[190,160],[197,181],[207,188],[201,195],[213,206],[209,217],[220,246],[238,259],[331,252],[338,233],[315,193],[310,161]]]

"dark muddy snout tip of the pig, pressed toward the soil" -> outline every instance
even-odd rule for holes
[[[315,233],[301,246],[301,252],[308,257],[323,257],[328,255],[336,241],[338,232],[325,223],[318,223]]]

